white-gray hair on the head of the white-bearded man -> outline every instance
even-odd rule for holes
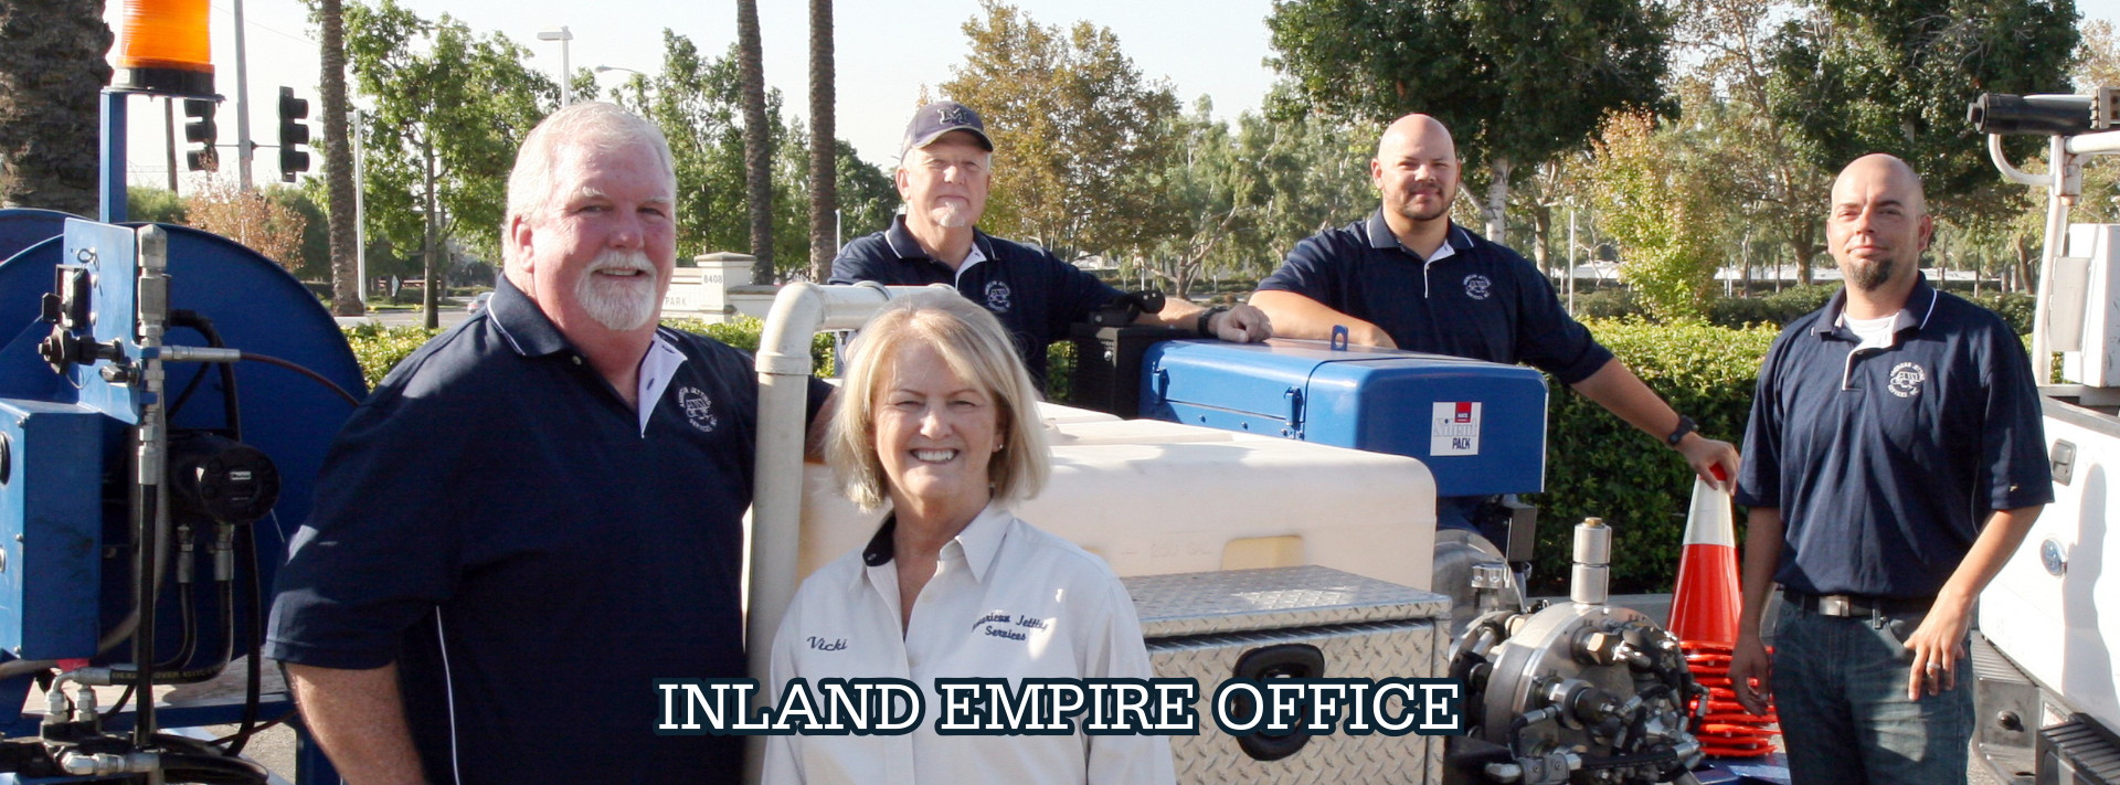
[[[502,238],[515,219],[543,214],[551,208],[558,189],[551,174],[560,163],[560,151],[566,146],[621,151],[636,144],[655,151],[655,159],[661,161],[664,191],[674,199],[676,159],[670,155],[670,140],[655,123],[606,102],[581,102],[547,115],[524,136],[524,146],[515,153],[515,170],[509,172],[509,212],[500,219]]]

